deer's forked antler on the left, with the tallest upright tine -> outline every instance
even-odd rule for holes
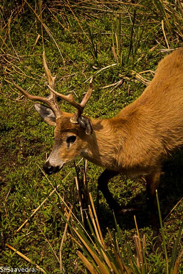
[[[43,63],[44,63],[44,68],[45,68],[46,76],[48,78],[49,86],[51,86],[52,90],[54,90],[55,89],[55,79],[56,79],[56,76],[53,77],[51,75],[49,69],[48,69],[48,65],[47,65],[46,57],[45,57],[45,51],[43,52]],[[59,116],[62,115],[62,111],[60,111],[59,106],[58,106],[58,104],[56,102],[56,95],[52,91],[50,91],[50,96],[48,98],[44,98],[44,97],[34,96],[34,95],[29,94],[23,88],[21,88],[20,86],[16,85],[16,83],[13,80],[12,80],[12,83],[17,88],[17,90],[19,90],[28,99],[42,102],[44,104],[47,104],[49,107],[51,107],[52,110],[54,111],[56,117],[59,117]]]

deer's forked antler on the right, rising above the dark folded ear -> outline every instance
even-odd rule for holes
[[[86,106],[88,100],[91,97],[91,93],[92,93],[92,80],[93,77],[90,80],[89,83],[89,87],[88,87],[88,91],[87,93],[84,95],[81,104],[77,103],[73,97],[72,94],[69,95],[63,95],[61,93],[56,92],[55,90],[53,90],[50,86],[48,86],[48,88],[55,93],[56,96],[62,98],[63,100],[66,100],[69,104],[71,104],[73,107],[77,108],[77,111],[73,114],[73,116],[70,118],[71,123],[73,124],[77,124],[78,123],[78,118],[81,116],[81,114],[83,113],[84,107]]]

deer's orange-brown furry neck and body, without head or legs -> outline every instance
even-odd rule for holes
[[[91,120],[81,155],[127,175],[149,174],[183,144],[183,49],[160,61],[144,93],[117,117]]]

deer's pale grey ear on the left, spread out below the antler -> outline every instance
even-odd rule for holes
[[[34,107],[46,123],[56,126],[56,116],[50,107],[41,104],[34,104]]]

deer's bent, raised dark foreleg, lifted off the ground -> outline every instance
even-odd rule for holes
[[[99,190],[104,195],[106,202],[108,203],[109,207],[114,210],[115,213],[118,213],[121,209],[120,205],[115,201],[112,194],[109,191],[108,188],[108,182],[110,179],[112,179],[114,176],[117,176],[119,172],[117,171],[111,171],[108,169],[105,169],[102,174],[98,178],[98,198],[97,198],[97,207],[99,205]]]

